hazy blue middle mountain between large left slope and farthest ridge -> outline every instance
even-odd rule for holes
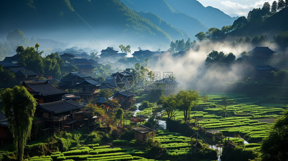
[[[207,31],[208,28],[201,22],[187,14],[177,12],[165,0],[121,0],[127,7],[142,12],[152,12],[175,28],[181,29],[194,38],[200,31]],[[177,1],[178,2],[178,1]],[[183,39],[186,37],[183,37]]]

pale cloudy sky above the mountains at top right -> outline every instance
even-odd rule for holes
[[[247,16],[249,11],[253,8],[262,8],[265,2],[269,2],[272,5],[273,1],[261,1],[261,0],[242,0],[242,1],[235,1],[235,0],[197,0],[203,6],[212,6],[215,8],[220,9],[224,13],[230,15],[231,17],[235,16]],[[278,2],[278,1],[276,1]]]

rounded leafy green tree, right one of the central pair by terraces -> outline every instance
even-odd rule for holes
[[[190,120],[190,111],[198,104],[200,95],[196,90],[180,90],[176,95],[177,108],[183,111],[184,121]]]

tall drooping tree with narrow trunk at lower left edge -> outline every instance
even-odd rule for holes
[[[8,118],[18,160],[23,160],[24,147],[30,137],[36,100],[24,86],[7,88],[1,93],[3,111]]]

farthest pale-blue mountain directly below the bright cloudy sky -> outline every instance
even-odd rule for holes
[[[192,16],[203,22],[208,28],[216,27],[221,29],[223,26],[233,24],[233,21],[238,17],[230,17],[221,10],[211,6],[204,7],[196,0],[166,0],[166,2],[173,6],[179,12]]]

